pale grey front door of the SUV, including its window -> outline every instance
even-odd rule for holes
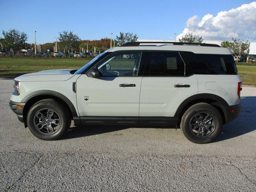
[[[138,118],[141,56],[142,52],[110,54],[95,66],[100,71],[99,78],[89,77],[88,74],[78,78],[76,97],[82,123],[106,123],[118,117],[115,122],[125,123],[132,122],[125,117]]]

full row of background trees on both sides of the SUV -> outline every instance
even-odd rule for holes
[[[20,32],[17,29],[10,29],[8,31],[2,31],[3,38],[0,38],[0,45],[2,50],[19,51],[22,49],[34,49],[34,44],[26,43],[28,36],[25,32]],[[120,32],[119,36],[116,36],[115,40],[112,41],[112,46],[120,46],[126,42],[135,42],[138,40],[138,35],[130,32]],[[190,42],[190,43],[202,43],[204,38],[199,35],[187,33],[179,38],[179,42]],[[54,51],[56,42],[49,42],[40,45],[37,50],[50,52]],[[234,56],[247,56],[249,53],[249,42],[242,41],[237,38],[232,38],[232,42],[223,41],[221,42],[222,47],[228,47],[234,54]],[[66,52],[81,52],[88,50],[88,52],[104,52],[110,48],[110,38],[101,38],[100,40],[81,40],[77,34],[72,31],[59,32],[57,50],[55,51],[66,51]]]

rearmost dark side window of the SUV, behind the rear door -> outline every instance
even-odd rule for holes
[[[192,70],[194,70],[194,74],[237,74],[232,55],[194,54],[192,52],[184,52],[184,54]]]

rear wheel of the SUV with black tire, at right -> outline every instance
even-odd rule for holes
[[[212,118],[212,120],[210,122],[207,119],[203,120],[205,117],[207,119]],[[222,124],[222,116],[214,106],[207,103],[198,103],[188,108],[183,114],[180,128],[188,140],[204,144],[211,142],[220,134]]]

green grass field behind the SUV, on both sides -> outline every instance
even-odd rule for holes
[[[0,78],[15,78],[42,70],[80,68],[89,61],[85,58],[0,58]],[[111,68],[115,66],[114,62],[111,63]],[[255,64],[239,63],[237,68],[244,85],[256,86]]]

